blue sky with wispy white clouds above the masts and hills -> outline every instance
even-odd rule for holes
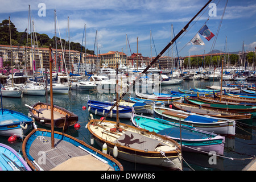
[[[94,49],[97,30],[98,49],[101,53],[121,52],[123,49],[123,52],[130,56],[130,48],[132,53],[137,52],[138,37],[138,52],[150,57],[150,31],[154,39],[152,56],[156,56],[155,52],[162,51],[171,40],[171,24],[174,26],[174,33],[177,34],[207,2],[208,0],[2,0],[0,20],[8,19],[10,16],[18,31],[24,31],[27,28],[28,5],[30,5],[36,32],[47,34],[52,38],[55,32],[54,10],[56,9],[58,37],[60,31],[61,38],[68,40],[66,35],[69,16],[72,42],[82,43],[84,24],[86,24],[86,48]],[[46,16],[38,16],[39,3],[46,5]],[[242,51],[243,41],[245,50],[254,51],[256,47],[256,1],[229,0],[218,36],[217,30],[226,0],[213,0],[212,3],[217,5],[216,16],[209,17],[208,13],[212,7],[207,7],[203,11],[204,14],[197,16],[196,20],[190,24],[189,30],[177,41],[179,56],[188,56],[189,51],[191,55],[203,54],[204,51],[208,53],[212,48],[223,51],[226,36],[227,52]],[[216,43],[214,43],[214,38],[208,41],[200,35],[205,46],[188,44],[206,21],[209,29],[216,35]],[[126,35],[130,43],[128,49]],[[173,50],[174,56],[177,56],[176,47]],[[166,51],[164,56],[171,56],[171,49]]]

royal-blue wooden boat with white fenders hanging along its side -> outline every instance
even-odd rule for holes
[[[88,110],[94,114],[98,115],[106,115],[109,113],[110,108],[114,105],[113,102],[100,102],[100,101],[93,101],[90,100],[88,96]],[[119,118],[131,118],[132,113],[132,107],[129,106],[118,106],[119,111]],[[117,109],[114,107],[112,111],[110,111],[110,114],[108,114],[108,117],[117,117]]]

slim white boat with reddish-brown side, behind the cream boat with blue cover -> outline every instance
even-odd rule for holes
[[[135,90],[135,94],[137,97],[139,98],[143,98],[143,99],[147,99],[147,100],[151,100],[151,101],[162,101],[164,102],[164,104],[171,104],[172,102],[181,102],[181,97],[162,97],[162,96],[154,96],[154,95],[150,95],[150,94],[143,94],[143,93],[138,93]]]

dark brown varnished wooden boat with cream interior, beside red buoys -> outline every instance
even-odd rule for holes
[[[51,127],[51,106],[47,103],[38,102],[32,106],[25,105],[29,108],[29,114],[40,125]],[[63,107],[53,105],[54,127],[67,129],[78,121],[78,116]]]

